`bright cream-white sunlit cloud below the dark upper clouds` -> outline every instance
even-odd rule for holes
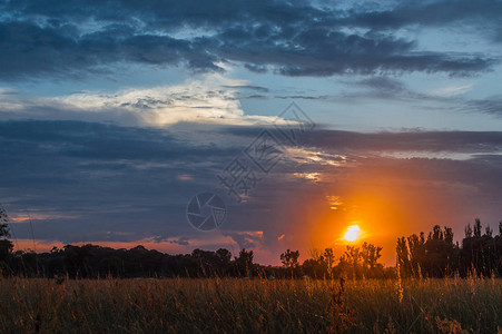
[[[0,100],[0,118],[157,127],[178,122],[270,124],[274,117],[245,115],[243,111],[237,96],[238,88],[246,87],[245,84],[245,80],[206,75],[201,80],[187,80],[181,85],[116,92],[79,91],[60,97],[22,97],[13,90],[3,89],[0,91],[4,96]]]

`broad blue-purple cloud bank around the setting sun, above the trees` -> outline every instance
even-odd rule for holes
[[[259,128],[244,131],[200,125],[200,130],[220,134],[210,141],[204,136],[187,141],[176,128],[81,121],[2,121],[0,129],[0,158],[9,161],[0,167],[0,195],[17,218],[13,230],[20,239],[30,238],[29,213],[41,240],[157,243],[169,252],[232,244],[236,249],[255,247],[262,254],[275,254],[285,245],[308,247],[312,229],[328,224],[326,217],[332,224],[326,228],[343,228],[357,215],[356,206],[364,206],[362,194],[394,206],[412,198],[413,209],[402,208],[402,216],[395,217],[407,220],[406,230],[412,232],[451,219],[441,224],[460,233],[478,215],[493,223],[501,214],[493,206],[502,186],[501,132],[314,131],[303,146],[291,147],[270,175],[262,175],[249,200],[236,205],[225,197],[227,222],[220,232],[200,235],[186,222],[186,203],[204,190],[225,196],[216,174]],[[230,146],[222,145],[229,138]],[[411,156],[396,155],[403,151]],[[444,157],[416,154],[434,151]],[[459,154],[464,156],[457,159]],[[391,200],[387,193],[392,189],[406,190],[402,190],[403,198]],[[329,203],[334,197],[338,210]],[[437,207],[429,214],[411,215],[434,200]],[[465,202],[464,206],[453,210],[457,200]],[[394,236],[387,237],[394,242]]]

